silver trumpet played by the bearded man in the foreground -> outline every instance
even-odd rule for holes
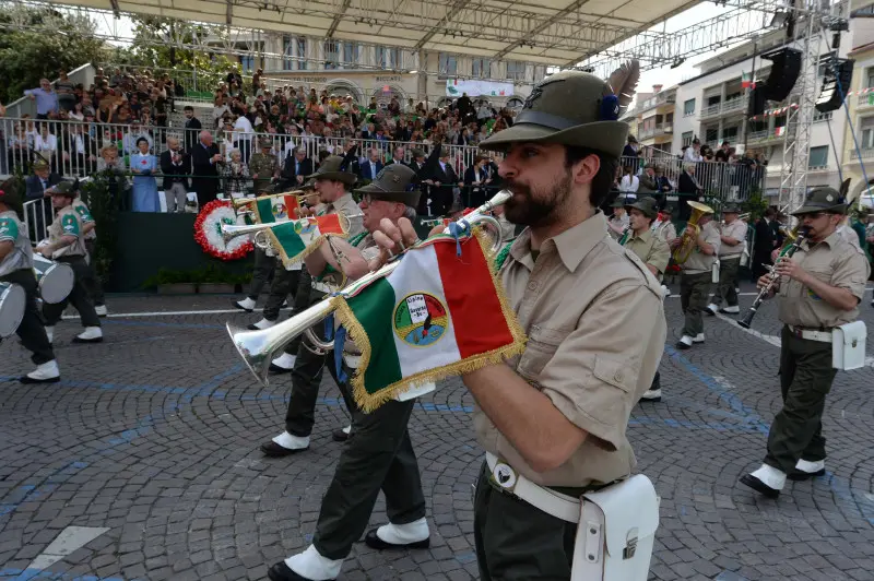
[[[487,223],[495,227],[496,240],[493,244],[493,251],[497,251],[503,245],[503,236],[500,234],[500,225],[497,220],[488,215],[495,206],[501,205],[512,197],[509,190],[501,190],[496,193],[485,204],[477,208],[460,221],[453,223],[464,228],[473,227],[476,224]],[[450,233],[450,227],[444,230],[445,234]],[[400,261],[393,259],[386,263],[380,269],[369,272],[361,278],[351,282],[338,294],[340,296],[352,296],[362,288],[369,284],[388,276],[398,265]],[[314,325],[323,321],[334,309],[333,297],[327,298],[312,305],[308,309],[286,319],[285,321],[264,329],[262,331],[249,331],[232,323],[227,323],[227,333],[231,335],[231,341],[237,348],[237,352],[243,357],[244,363],[249,370],[255,375],[256,379],[262,384],[267,386],[268,371],[270,369],[270,361],[276,353],[285,347],[291,341],[297,336],[306,333]],[[311,334],[307,335],[308,339],[314,339]],[[333,348],[333,343],[318,342],[317,347],[322,349]]]

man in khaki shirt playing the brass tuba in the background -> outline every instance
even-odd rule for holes
[[[701,312],[707,308],[707,297],[713,284],[713,263],[719,253],[719,230],[713,225],[713,214],[705,213],[698,220],[700,232],[696,235],[692,225],[686,226],[686,235],[694,237],[695,248],[689,258],[681,264],[683,274],[680,278],[680,303],[683,307],[683,336],[676,348],[687,349],[693,343],[704,343],[704,318]],[[671,240],[674,249],[683,241],[683,236]]]

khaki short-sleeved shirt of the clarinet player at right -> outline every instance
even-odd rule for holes
[[[862,299],[871,272],[865,253],[848,242],[840,233],[832,233],[822,242],[801,244],[792,259],[811,275],[838,288],[850,290]],[[779,318],[786,324],[810,329],[838,327],[859,318],[859,307],[840,310],[832,307],[799,281],[780,278]]]

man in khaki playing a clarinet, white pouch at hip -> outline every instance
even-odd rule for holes
[[[837,375],[832,337],[861,331],[838,329],[859,318],[859,303],[865,292],[871,266],[864,252],[836,232],[847,202],[831,188],[816,188],[804,204],[792,213],[807,228],[800,248],[791,258],[775,264],[779,275],[771,287],[778,294],[780,334],[780,391],[783,407],[768,432],[768,450],[761,466],[746,474],[741,483],[776,498],[787,478],[803,481],[825,474],[826,440],[823,437],[823,410]],[[771,275],[758,280],[767,287]],[[859,325],[859,323],[857,323]],[[857,327],[852,325],[852,327]],[[861,342],[864,344],[864,342]]]

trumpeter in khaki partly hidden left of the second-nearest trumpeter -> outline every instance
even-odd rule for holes
[[[345,215],[350,218],[350,239],[354,239],[364,232],[362,221],[356,217],[361,214],[361,209],[349,191],[357,177],[355,174],[346,171],[343,163],[343,157],[339,155],[328,156],[319,166],[319,170],[307,178],[315,180],[319,201],[324,204],[319,215]],[[323,275],[312,277],[310,305],[322,300],[340,288],[343,274],[333,269],[329,269],[329,271],[326,271]],[[317,324],[314,328],[314,332],[322,340],[324,340],[323,328],[323,324]],[[288,411],[285,415],[285,431],[261,444],[261,451],[265,455],[284,456],[309,448],[309,436],[316,423],[319,383],[321,383],[327,361],[327,354],[314,353],[307,348],[305,342],[300,343],[294,369],[292,369],[292,399],[288,401]],[[346,398],[346,406],[352,408],[349,398]]]

